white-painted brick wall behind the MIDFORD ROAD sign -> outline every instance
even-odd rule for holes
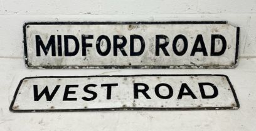
[[[23,56],[31,21],[228,21],[241,27],[240,56],[256,57],[255,0],[1,0],[0,19],[0,57]]]

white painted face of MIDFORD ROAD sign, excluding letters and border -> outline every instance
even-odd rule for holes
[[[40,47],[41,56],[36,56],[35,35],[40,35],[46,45],[51,35],[62,36],[62,49],[64,49],[63,35],[76,36],[80,48],[75,56],[51,56],[51,48],[45,55]],[[87,47],[87,56],[82,56],[82,35],[93,35],[93,39],[87,39],[92,47]],[[130,56],[130,35],[137,34],[144,38],[145,50],[141,56]],[[169,45],[166,47],[170,56],[165,56],[160,49],[159,56],[156,56],[156,35],[164,34],[169,37]],[[173,52],[173,39],[183,34],[188,40],[188,49],[183,56],[177,56]],[[195,44],[196,36],[202,34],[208,56],[202,52],[196,52],[190,56]],[[211,34],[220,34],[227,41],[227,49],[221,56],[210,56]],[[97,38],[106,35],[111,41],[110,53],[107,56],[100,56],[96,50]],[[117,56],[113,54],[113,35],[123,35],[127,39],[124,51],[128,56],[123,56],[118,49]],[[119,41],[118,41],[119,42]],[[160,41],[161,44],[164,41]],[[235,65],[235,51],[237,44],[237,28],[229,24],[139,24],[139,25],[27,25],[26,44],[28,49],[29,67],[51,67],[51,66],[104,66],[104,65],[164,65],[164,66],[233,66]],[[105,41],[100,44],[102,51],[106,49]],[[74,51],[75,44],[70,40],[70,51]],[[56,45],[56,52],[58,52]],[[201,47],[201,46],[198,46]],[[216,51],[220,51],[222,42],[216,44]],[[139,51],[141,45],[135,41],[135,51]],[[178,41],[178,51],[183,50],[183,41]],[[62,51],[64,54],[64,51]],[[171,67],[170,67],[171,68]]]

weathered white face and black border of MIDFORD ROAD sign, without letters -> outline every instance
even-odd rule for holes
[[[138,34],[143,37],[145,43],[144,52],[139,56],[130,56],[130,36]],[[168,39],[161,39],[160,42],[169,42],[166,46],[169,56],[159,49],[159,56],[156,55],[156,35],[168,36]],[[182,34],[188,41],[188,49],[182,56],[177,56],[173,51],[174,37]],[[203,36],[207,56],[202,52],[196,52],[191,56],[193,46],[198,35]],[[211,35],[220,34],[227,41],[227,48],[220,56],[211,56]],[[56,56],[52,56],[52,50],[44,52],[40,48],[41,56],[36,56],[36,38],[40,35],[41,41],[46,45],[51,35],[55,36]],[[57,35],[61,36],[61,51],[58,51]],[[79,42],[79,50],[75,56],[64,56],[64,35],[73,35]],[[87,39],[92,47],[86,47],[86,54],[82,54],[82,36],[93,35],[93,39]],[[105,41],[97,41],[100,35],[108,36],[111,48],[107,56],[100,56],[96,46],[106,50]],[[123,50],[127,56],[123,56],[120,49],[117,49],[117,56],[114,56],[113,36],[120,35],[127,39]],[[120,37],[121,38],[121,37]],[[26,65],[30,69],[113,69],[113,68],[230,68],[237,65],[238,59],[239,27],[231,26],[225,21],[204,21],[204,22],[29,22],[24,25],[24,52]],[[120,41],[117,41],[120,44]],[[122,42],[122,41],[121,41]],[[222,42],[216,39],[215,51],[220,51]],[[163,44],[163,43],[161,43]],[[75,50],[73,40],[70,40],[70,52]],[[134,42],[135,51],[141,48],[138,41]],[[183,51],[184,42],[179,39],[176,44],[177,50]],[[197,46],[201,47],[201,42]],[[61,55],[59,54],[61,52]]]

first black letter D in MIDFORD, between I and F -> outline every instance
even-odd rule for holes
[[[75,51],[69,52],[68,51],[68,39],[73,39],[75,42]],[[79,51],[79,42],[77,37],[72,35],[64,35],[64,48],[65,48],[65,56],[75,56]]]

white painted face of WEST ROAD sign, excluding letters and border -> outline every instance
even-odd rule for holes
[[[218,89],[218,95],[213,99],[202,99],[198,83],[210,82]],[[107,100],[107,87],[101,84],[113,84],[111,99]],[[134,83],[144,83],[149,85],[147,94],[151,99],[146,99],[139,93],[139,99],[134,99]],[[165,83],[171,85],[173,96],[169,99],[160,99],[154,90],[157,84]],[[177,99],[181,84],[186,83],[196,95],[197,99],[192,99],[189,95],[184,95],[182,99]],[[96,87],[89,87],[88,90],[97,92],[94,100],[85,101],[82,97],[92,97],[83,91],[87,84],[96,84]],[[48,86],[50,93],[56,85],[60,88],[53,97],[53,100],[46,101],[45,95],[39,101],[34,100],[33,85],[38,85],[38,94]],[[78,85],[70,88],[75,94],[69,94],[69,98],[77,100],[63,100],[66,85]],[[205,85],[205,94],[212,95],[213,89]],[[144,89],[139,86],[139,89]],[[159,93],[163,96],[168,95],[168,88],[160,87]],[[184,92],[187,92],[185,89]],[[133,76],[133,77],[78,77],[78,78],[33,78],[24,79],[19,87],[18,95],[15,99],[14,110],[47,110],[47,109],[111,109],[120,107],[144,107],[144,108],[197,108],[197,107],[236,107],[232,89],[228,80],[224,76]]]

